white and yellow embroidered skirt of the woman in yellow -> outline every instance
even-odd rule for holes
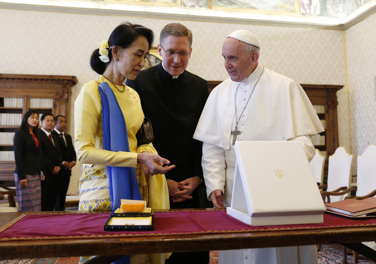
[[[97,165],[92,165],[91,167],[85,165],[80,177],[79,193],[80,202],[78,208],[80,211],[111,211],[112,203],[107,169],[100,168]],[[100,253],[100,249],[98,249],[98,253]],[[80,256],[79,264],[83,264],[94,257]],[[121,260],[118,260],[117,263],[121,263]],[[152,263],[152,256],[150,254],[130,256],[130,264],[147,263]],[[164,259],[162,263],[164,263]]]

